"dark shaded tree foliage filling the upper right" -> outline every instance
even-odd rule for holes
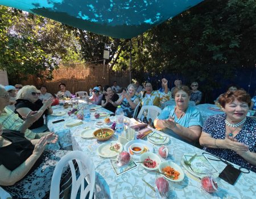
[[[134,38],[133,68],[152,76],[180,73],[211,90],[219,86],[216,78],[254,68],[255,49],[255,0],[209,0]]]

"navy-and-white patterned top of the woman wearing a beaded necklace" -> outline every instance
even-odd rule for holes
[[[225,114],[218,114],[210,116],[207,121],[204,123],[203,131],[207,134],[210,134],[212,138],[215,139],[225,139],[226,128],[225,128]],[[256,121],[246,117],[246,121],[241,129],[241,131],[234,137],[249,147],[250,152],[256,152]],[[204,150],[210,152],[213,155],[221,157],[225,160],[228,160],[234,164],[240,165],[250,169],[253,172],[256,172],[256,166],[248,163],[235,151],[224,149],[224,148],[207,148],[204,147]]]

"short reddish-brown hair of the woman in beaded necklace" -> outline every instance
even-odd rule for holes
[[[233,102],[235,99],[240,102],[246,102],[249,107],[251,105],[250,94],[245,90],[228,91],[218,98],[218,103],[220,103],[222,107],[225,107],[226,103]]]

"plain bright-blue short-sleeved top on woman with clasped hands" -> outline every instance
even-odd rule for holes
[[[176,123],[178,123],[180,126],[188,128],[190,126],[197,126],[198,125],[198,126],[203,127],[203,119],[201,117],[201,114],[200,114],[199,110],[197,110],[195,106],[188,106],[188,109],[185,111],[185,114],[181,118],[177,118],[174,111],[175,111],[175,105],[166,106],[163,109],[162,113],[160,113],[160,115],[158,115],[157,118],[158,119],[168,119],[169,117],[174,117],[174,121]],[[174,131],[172,131],[168,128],[165,128],[163,130],[163,132],[165,132],[166,134],[171,135],[172,137],[174,137],[176,139],[182,140],[183,142],[193,144],[193,145],[196,144],[196,143],[188,142],[187,140],[181,138]]]

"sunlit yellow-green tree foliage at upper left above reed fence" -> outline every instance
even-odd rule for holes
[[[72,32],[50,19],[0,6],[0,68],[11,80],[28,74],[52,78],[60,60],[77,61],[79,51]]]

